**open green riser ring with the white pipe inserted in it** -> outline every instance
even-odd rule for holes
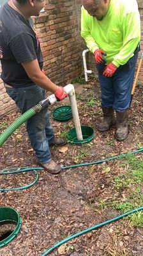
[[[93,140],[94,138],[93,128],[89,126],[81,126],[81,129],[82,129],[83,140],[77,140],[77,134],[76,134],[75,128],[73,128],[68,132],[66,136],[67,141],[73,144],[82,144],[82,143],[87,143]]]

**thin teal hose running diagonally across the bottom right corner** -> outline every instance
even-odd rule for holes
[[[134,213],[134,212],[138,212],[138,211],[141,211],[141,210],[143,210],[143,206],[138,207],[138,208],[136,208],[136,209],[133,209],[133,210],[130,211],[130,212],[126,212],[126,213],[124,213],[124,214],[121,214],[121,215],[119,215],[119,216],[116,216],[116,217],[113,218],[113,219],[110,219],[110,220],[104,221],[104,222],[102,222],[102,223],[99,223],[98,225],[95,225],[95,226],[93,226],[93,227],[84,229],[84,230],[80,231],[80,232],[77,233],[77,234],[74,234],[74,235],[72,235],[72,236],[66,237],[65,239],[61,240],[59,243],[57,243],[57,244],[55,244],[54,246],[50,247],[46,252],[42,253],[41,256],[46,256],[47,254],[49,254],[50,252],[52,252],[54,249],[56,249],[57,247],[59,247],[61,244],[64,244],[64,243],[66,243],[66,242],[72,240],[73,238],[82,236],[82,235],[86,234],[87,232],[91,232],[92,230],[95,230],[95,229],[97,229],[97,228],[101,228],[101,227],[103,227],[103,226],[105,226],[105,225],[107,225],[107,224],[110,224],[110,223],[114,222],[114,221],[120,220],[121,218],[124,218],[124,217],[128,216],[129,214],[132,214],[132,213]]]

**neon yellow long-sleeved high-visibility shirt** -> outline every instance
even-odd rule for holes
[[[119,67],[132,56],[140,42],[140,13],[136,0],[110,0],[103,20],[97,20],[82,6],[81,36],[89,51],[102,49],[107,53],[107,64],[111,61]]]

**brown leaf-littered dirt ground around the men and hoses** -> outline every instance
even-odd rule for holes
[[[102,119],[100,88],[96,79],[88,84],[75,84],[80,122],[94,129],[94,139],[83,145],[68,143],[64,147],[52,147],[52,158],[67,166],[105,159],[123,154],[143,146],[142,86],[137,86],[129,110],[130,134],[124,142],[116,141],[116,127],[100,133],[96,125]],[[50,120],[56,136],[66,136],[72,129],[73,120],[57,122],[52,111],[60,105],[69,104],[68,99],[50,106]],[[0,132],[11,124],[19,111],[9,113],[0,120]],[[22,125],[0,148],[0,168],[15,166],[37,166],[36,157]],[[137,154],[142,159],[142,154]],[[92,227],[102,221],[114,218],[123,211],[112,202],[126,202],[131,187],[117,188],[115,177],[124,173],[122,159],[108,163],[63,170],[59,175],[40,171],[40,178],[34,186],[21,191],[1,193],[0,206],[17,209],[22,218],[18,236],[0,249],[1,256],[40,256],[50,246]],[[24,186],[34,179],[31,172],[17,175],[0,175],[0,187]],[[136,184],[132,184],[132,187]],[[142,193],[143,188],[141,190]],[[133,206],[137,207],[138,202]],[[140,202],[143,205],[143,202]],[[139,205],[139,206],[140,206]],[[143,256],[142,227],[134,227],[128,218],[110,223],[73,239],[54,250],[50,255],[70,256]]]

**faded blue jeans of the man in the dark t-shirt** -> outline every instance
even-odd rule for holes
[[[45,99],[45,90],[37,85],[24,88],[6,87],[6,92],[15,100],[22,114]],[[26,129],[38,161],[42,164],[48,163],[51,160],[49,142],[52,143],[54,140],[54,132],[47,109],[27,120]]]

